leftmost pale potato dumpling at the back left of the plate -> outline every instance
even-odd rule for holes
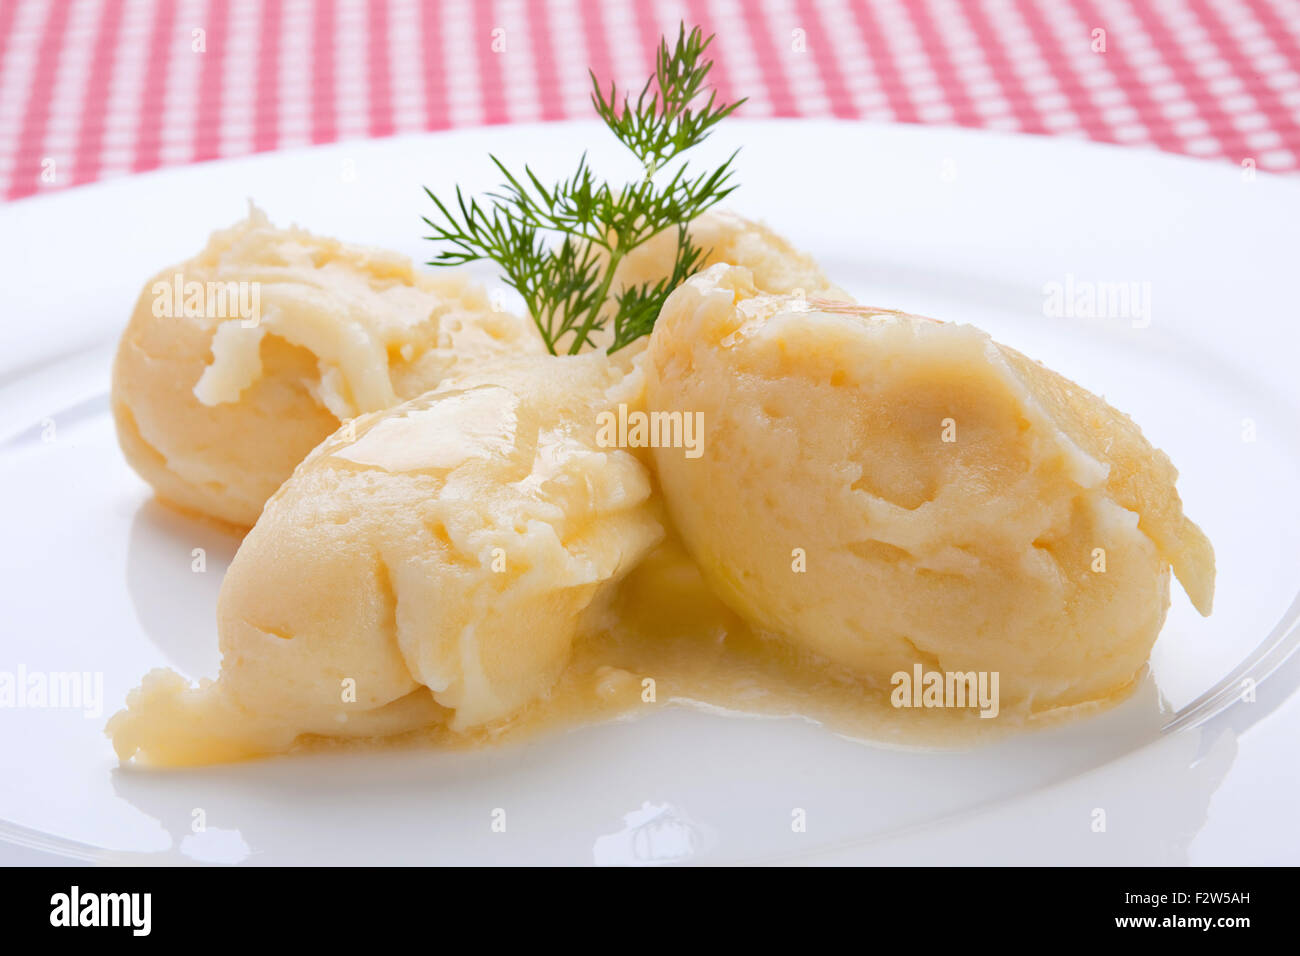
[[[541,351],[530,321],[494,311],[462,273],[277,229],[254,208],[144,285],[113,365],[113,415],[159,497],[247,527],[341,420]]]

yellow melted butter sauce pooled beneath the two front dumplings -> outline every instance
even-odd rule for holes
[[[653,698],[646,680],[653,682]],[[546,698],[465,734],[437,726],[384,743],[474,749],[681,705],[738,717],[802,718],[878,747],[952,750],[1097,713],[1128,696],[1131,687],[1106,701],[1036,714],[1004,708],[996,718],[979,717],[978,708],[894,708],[889,689],[757,633],[712,596],[681,544],[670,538],[602,606],[590,609],[572,658]],[[304,739],[299,749],[339,745],[358,744]]]

